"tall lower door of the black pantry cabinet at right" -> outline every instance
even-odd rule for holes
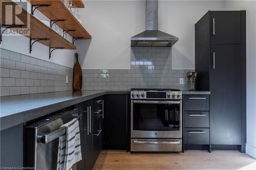
[[[211,45],[211,143],[241,144],[241,45]],[[220,133],[221,132],[221,133]]]

